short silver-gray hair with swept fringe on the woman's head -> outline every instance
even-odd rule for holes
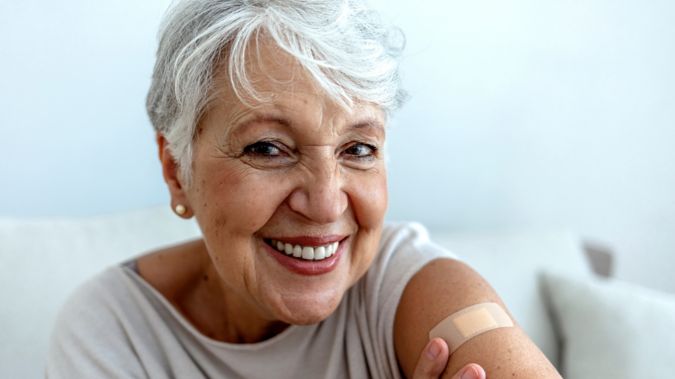
[[[179,1],[160,28],[146,108],[155,130],[167,139],[186,185],[195,129],[221,61],[244,104],[246,98],[264,100],[246,69],[246,48],[260,32],[343,107],[358,100],[389,114],[405,98],[398,74],[403,35],[385,26],[360,0]]]

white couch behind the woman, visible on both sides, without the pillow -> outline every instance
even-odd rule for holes
[[[43,374],[53,320],[66,296],[104,267],[199,234],[168,207],[86,219],[0,218],[0,377]],[[554,269],[590,276],[578,238],[566,232],[432,233],[481,272],[556,364],[560,340],[539,289]]]

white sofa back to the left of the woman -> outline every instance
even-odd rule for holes
[[[106,266],[199,235],[168,207],[67,220],[0,218],[0,378],[44,376],[60,305]]]

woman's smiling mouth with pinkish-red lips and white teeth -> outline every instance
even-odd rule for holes
[[[337,267],[347,240],[343,236],[274,238],[265,239],[264,245],[286,269],[300,275],[321,275]]]

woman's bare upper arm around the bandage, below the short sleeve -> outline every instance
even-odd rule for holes
[[[406,377],[412,376],[434,326],[461,309],[484,302],[497,303],[506,310],[492,287],[460,261],[437,259],[415,274],[401,296],[394,322],[396,355]],[[446,375],[468,363],[478,363],[490,379],[560,378],[515,320],[514,324],[466,341],[450,355]]]

